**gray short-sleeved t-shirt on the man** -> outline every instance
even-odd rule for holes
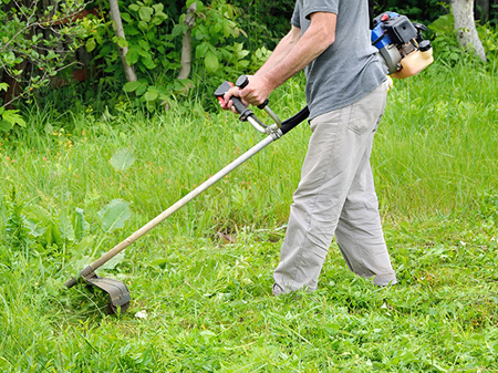
[[[310,14],[338,14],[335,41],[305,68],[310,120],[347,106],[386,80],[386,71],[371,43],[367,0],[297,0],[292,24],[303,34]]]

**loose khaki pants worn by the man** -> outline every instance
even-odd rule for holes
[[[386,92],[385,82],[356,103],[311,121],[308,154],[273,273],[276,296],[317,289],[334,234],[352,271],[378,286],[396,283],[370,166]]]

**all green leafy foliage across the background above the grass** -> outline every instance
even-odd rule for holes
[[[64,4],[62,0],[59,1]],[[53,64],[60,63],[62,59],[66,59],[66,63],[70,64],[71,51],[84,42],[86,50],[93,56],[92,65],[89,68],[93,72],[94,80],[87,80],[79,85],[58,86],[56,90],[53,90],[53,85],[51,85],[49,89],[38,91],[41,96],[39,102],[46,100],[51,104],[59,105],[60,112],[64,112],[68,105],[79,107],[92,105],[101,113],[105,111],[115,113],[120,105],[127,102],[133,103],[138,111],[145,108],[157,112],[158,108],[162,108],[159,111],[162,112],[163,108],[169,110],[178,104],[187,104],[189,101],[201,97],[206,110],[215,110],[216,104],[210,100],[214,89],[224,80],[235,80],[239,74],[251,73],[260,66],[268,58],[269,51],[289,30],[294,1],[198,1],[196,23],[193,29],[193,72],[190,79],[179,81],[176,76],[179,70],[181,37],[187,30],[184,20],[186,7],[190,3],[191,1],[187,2],[186,0],[121,1],[120,8],[127,38],[125,41],[115,38],[112,22],[107,15],[107,1],[98,0],[92,3],[92,7],[95,4],[98,9],[96,17],[84,18],[74,24],[58,23],[59,29],[51,27],[54,30],[50,30],[50,33],[56,31],[64,35],[71,34],[72,39],[64,37],[63,40],[74,41],[74,45],[71,44],[71,49],[68,46],[64,52],[54,50],[53,53],[59,54],[59,58],[53,58],[50,53],[42,53],[37,46],[45,42],[53,43],[54,38],[44,40],[49,30],[46,27],[44,27],[45,29],[40,25],[34,27],[37,22],[31,20],[30,24],[33,25],[33,30],[41,28],[43,35],[37,34],[35,42],[28,37],[22,39],[24,42],[30,42],[31,50],[41,55],[39,61],[33,64],[29,63],[28,68],[22,69],[23,79],[33,75],[35,76],[34,81],[38,80],[24,86],[24,94],[37,92],[38,89],[34,87],[41,87],[51,81],[53,74],[60,73],[60,69],[55,69]],[[71,4],[74,7],[74,9],[71,8],[73,12],[83,7],[82,2],[72,2]],[[70,9],[69,4],[65,7]],[[444,6],[434,0],[425,1],[424,6],[414,1],[403,4],[394,0],[376,2],[376,12],[386,9],[397,10],[412,19],[424,22],[447,11]],[[50,14],[50,17],[55,17],[50,19],[50,22],[60,22],[63,18],[62,11],[60,14],[54,11]],[[2,10],[2,17],[10,15]],[[456,64],[458,61],[466,60],[467,56],[457,46],[454,32],[448,28],[449,17],[448,14],[443,15],[433,24],[434,51],[437,58],[442,58],[449,64]],[[20,20],[22,21],[21,18]],[[13,25],[23,24],[21,21],[3,22],[3,27],[9,24],[9,28],[14,30]],[[25,25],[28,23],[25,21]],[[62,32],[62,28],[66,31]],[[9,32],[13,32],[12,30]],[[28,33],[31,32],[29,30]],[[491,56],[496,54],[495,30],[485,25],[479,28],[479,33],[488,54],[490,53]],[[138,75],[137,82],[126,83],[116,44],[128,46],[127,62],[134,65]],[[23,48],[27,49],[25,45]],[[31,61],[34,54],[30,53],[27,54],[27,59]],[[4,54],[3,58],[8,60],[8,54]],[[44,62],[41,61],[42,58],[45,59]],[[53,64],[50,66],[43,64],[49,62]],[[38,68],[38,70],[30,70],[31,65],[40,66],[43,70]],[[21,71],[19,66],[15,69],[18,72]],[[38,83],[40,85],[37,85]],[[33,91],[30,91],[31,87]],[[7,83],[0,84],[0,92],[8,90],[13,90],[12,84],[10,87]],[[24,118],[21,116],[21,112],[6,110],[0,112],[0,131],[11,131],[15,126],[22,126],[23,123]]]

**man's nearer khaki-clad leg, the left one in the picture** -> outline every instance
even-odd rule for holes
[[[307,288],[318,278],[344,201],[385,106],[383,84],[353,105],[313,118],[293,196],[273,293]]]

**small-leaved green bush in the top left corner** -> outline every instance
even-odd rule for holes
[[[21,96],[48,85],[58,72],[74,64],[72,53],[94,27],[87,18],[77,19],[84,6],[82,0],[54,0],[44,9],[38,2],[14,2],[9,10],[0,7],[0,68],[4,77],[20,86]]]

